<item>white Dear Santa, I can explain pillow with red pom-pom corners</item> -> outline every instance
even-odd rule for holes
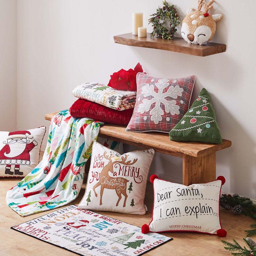
[[[156,175],[150,177],[154,187],[152,220],[141,232],[192,231],[226,236],[220,224],[220,190],[225,178],[204,184],[184,186]]]

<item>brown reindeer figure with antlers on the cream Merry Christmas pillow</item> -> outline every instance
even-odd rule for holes
[[[112,155],[110,154],[110,156],[107,155],[107,152],[105,151],[103,156],[109,161],[107,165],[105,165],[100,173],[100,179],[99,179],[99,182],[97,184],[94,185],[93,187],[93,191],[95,193],[95,196],[97,197],[97,193],[95,191],[95,188],[100,187],[100,205],[102,204],[102,196],[103,196],[103,192],[104,192],[104,188],[107,188],[107,189],[115,189],[116,190],[116,195],[118,196],[118,200],[116,202],[116,206],[118,206],[121,198],[122,198],[122,195],[124,195],[124,204],[123,204],[123,207],[125,207],[125,204],[126,204],[126,199],[127,199],[127,194],[126,194],[126,185],[127,185],[127,182],[129,180],[126,180],[122,177],[110,177],[108,172],[111,172],[113,173],[114,170],[113,170],[113,166],[114,164],[116,163],[119,163],[119,164],[124,164],[124,165],[132,165],[134,163],[137,162],[138,158],[134,159],[132,162],[131,161],[126,161],[127,159],[127,155],[123,155],[121,157],[121,161],[114,161],[112,162],[112,157],[114,157],[115,155]]]

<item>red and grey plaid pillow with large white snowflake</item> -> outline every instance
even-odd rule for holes
[[[196,77],[157,78],[137,74],[137,97],[126,131],[170,132],[188,111]]]

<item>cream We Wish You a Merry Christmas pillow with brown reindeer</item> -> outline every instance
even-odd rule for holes
[[[154,149],[120,155],[94,142],[85,194],[78,208],[145,214],[144,197]]]

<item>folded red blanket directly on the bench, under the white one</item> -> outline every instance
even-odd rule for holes
[[[127,125],[132,117],[133,108],[119,111],[89,100],[78,99],[70,107],[69,112],[74,117],[89,117],[109,124]]]

